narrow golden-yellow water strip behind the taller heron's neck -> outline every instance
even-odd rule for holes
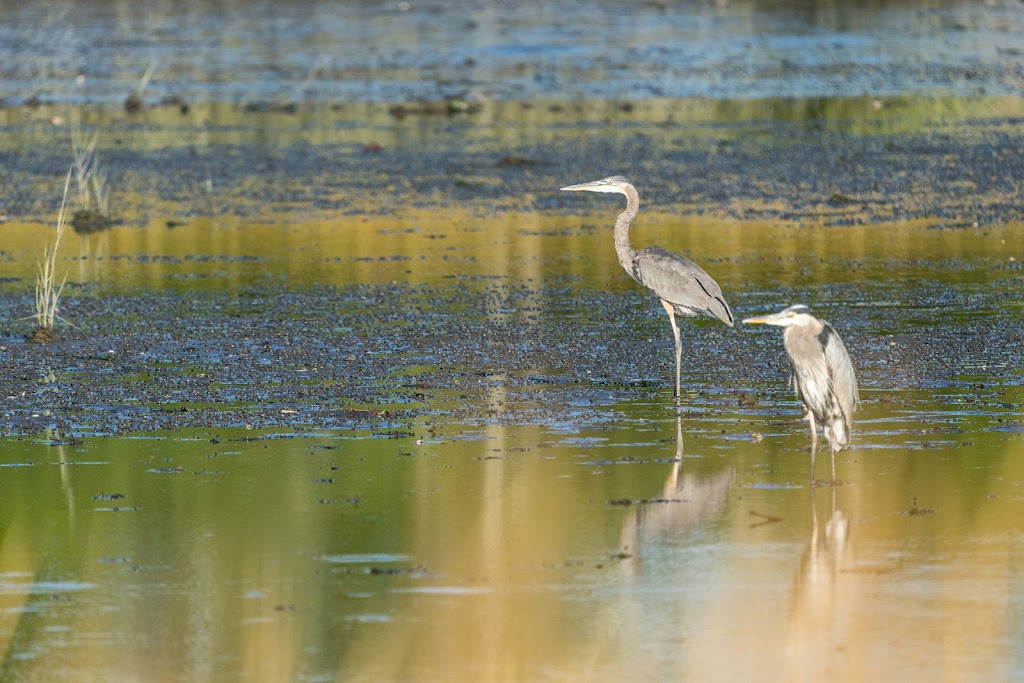
[[[608,202],[589,217],[568,218],[410,209],[292,225],[197,219],[174,228],[153,224],[66,237],[62,264],[69,283],[98,283],[113,291],[231,289],[268,280],[290,287],[437,285],[453,276],[534,287],[579,276],[620,291],[633,284],[621,276],[605,229],[618,210]],[[6,224],[4,231],[5,274],[28,286],[48,234],[24,223]],[[637,248],[657,244],[686,253],[727,295],[748,288],[752,279],[758,286],[841,285],[885,273],[890,281],[987,283],[1004,273],[1014,278],[1015,264],[1024,259],[1024,227],[1017,224],[983,230],[923,222],[835,228],[693,218],[652,207],[635,221],[632,240]],[[968,262],[970,267],[956,267]]]

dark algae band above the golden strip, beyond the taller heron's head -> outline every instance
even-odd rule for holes
[[[682,215],[831,226],[930,220],[953,228],[1024,218],[1017,201],[1024,161],[1015,154],[1022,100],[810,104],[659,99],[623,113],[605,102],[515,101],[488,103],[485,120],[415,122],[375,105],[311,104],[284,124],[211,104],[185,121],[141,114],[141,131],[100,110],[94,129],[116,221],[75,225],[87,233],[115,222],[339,220],[450,206],[575,212],[582,204],[550,188],[613,170],[628,173],[642,199],[656,197]],[[61,111],[52,115],[61,119]],[[32,122],[10,114],[22,126]],[[70,129],[53,126],[45,137],[14,130],[32,154],[0,148],[0,206],[8,221],[43,220],[59,204],[54,169],[70,161]],[[504,130],[517,134],[508,139]],[[380,150],[365,154],[367,139]]]

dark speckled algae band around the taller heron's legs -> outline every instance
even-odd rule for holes
[[[1021,283],[1007,286],[1019,291]],[[888,290],[851,284],[829,294],[815,285],[765,283],[756,295],[739,293],[734,306],[757,310],[799,291],[801,299],[833,296],[826,305],[842,308],[882,301]],[[962,308],[964,317],[915,327],[937,314],[939,301]],[[952,398],[966,407],[1019,409],[1008,387],[1019,382],[1024,331],[994,303],[970,285],[930,284],[901,293],[898,305],[854,306],[844,335],[862,386],[886,392],[880,400],[894,409],[902,397],[893,391],[962,385],[981,387]],[[671,393],[671,333],[655,306],[631,289],[484,281],[445,289],[313,287],[280,296],[257,288],[191,294],[187,310],[178,295],[153,292],[69,297],[65,311],[79,323],[46,345],[25,341],[16,321],[4,324],[8,433],[236,425],[387,436],[409,434],[400,425],[430,416],[599,419],[609,402]],[[775,339],[694,325],[684,335],[684,403],[756,414],[784,394]],[[763,396],[757,404],[742,398],[754,390]]]

